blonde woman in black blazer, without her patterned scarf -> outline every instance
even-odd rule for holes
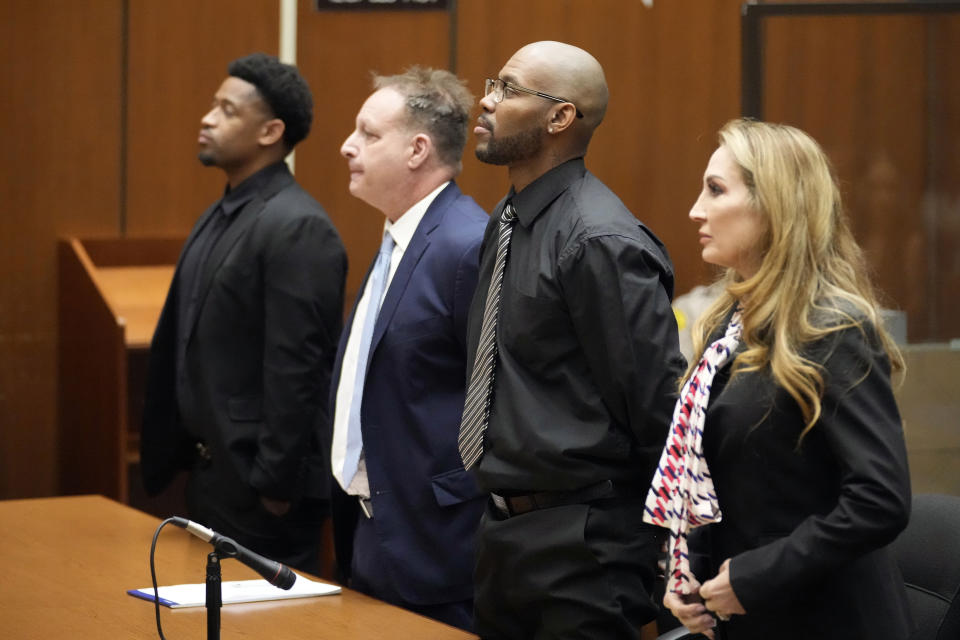
[[[908,637],[887,548],[910,513],[890,383],[903,362],[829,161],[795,128],[732,121],[690,218],[704,261],[727,268],[695,352],[737,305],[743,331],[703,427],[722,520],[691,545],[713,566],[664,604],[710,638]]]

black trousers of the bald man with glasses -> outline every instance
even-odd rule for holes
[[[610,498],[480,523],[477,632],[489,640],[639,638],[667,531],[644,524],[642,498]]]

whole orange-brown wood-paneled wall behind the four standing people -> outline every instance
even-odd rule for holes
[[[229,60],[256,50],[277,52],[278,4],[0,3],[7,142],[0,156],[5,204],[0,216],[0,498],[58,490],[56,238],[189,231],[223,187],[222,174],[195,159],[199,120]],[[706,280],[710,272],[699,259],[687,212],[715,147],[716,130],[740,112],[740,4],[655,0],[647,9],[623,0],[458,0],[451,22],[446,12],[317,12],[311,0],[300,0],[298,63],[316,109],[312,134],[297,151],[296,173],[341,230],[350,256],[351,299],[382,224],[379,212],[349,195],[346,163],[339,155],[370,93],[370,71],[394,73],[414,63],[447,67],[456,60],[454,71],[479,96],[485,77],[495,76],[520,46],[540,39],[582,46],[604,65],[610,109],[587,165],[664,240],[676,265],[678,293]],[[770,107],[782,105],[787,117],[798,105],[814,112],[820,108],[817,78],[797,75],[798,61],[809,56],[836,63],[841,68],[834,73],[843,74],[840,63],[858,59],[864,47],[886,38],[859,28],[829,37],[783,29],[782,62],[772,62],[770,73],[789,73],[803,87],[798,93],[791,84],[769,95]],[[940,41],[960,41],[957,31],[948,25]],[[914,60],[922,49],[898,45],[884,54],[883,46],[874,48],[891,69]],[[952,59],[934,61],[943,77]],[[844,77],[838,76],[841,82]],[[891,133],[887,129],[893,126],[865,117],[871,101],[921,99],[916,91],[891,90],[882,70],[856,77],[858,82],[846,86],[851,99],[840,100],[823,123],[864,144],[874,142],[875,131]],[[938,108],[956,114],[958,103],[954,91]],[[906,139],[919,125],[896,126]],[[945,140],[960,134],[960,126],[949,119],[942,128],[952,135]],[[893,148],[897,159],[920,153],[908,145]],[[841,168],[861,162],[846,153],[835,151]],[[955,185],[960,159],[955,151],[943,157],[937,184]],[[912,169],[905,171],[911,185],[920,179]],[[472,139],[459,182],[486,208],[508,188],[503,168],[473,157]],[[956,190],[945,186],[942,193],[945,202],[954,203],[950,206],[960,202]],[[952,255],[958,236],[960,230],[945,246],[938,245],[940,255]],[[960,276],[952,277],[960,283]],[[958,285],[953,286],[956,291]]]

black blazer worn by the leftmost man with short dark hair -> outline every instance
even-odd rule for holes
[[[260,495],[328,495],[320,452],[346,254],[323,208],[285,164],[249,179],[262,182],[213,248],[186,332],[194,406],[179,408],[175,390],[179,263],[153,337],[141,440],[150,493],[189,467],[196,440],[190,432],[200,432],[227,506]],[[184,253],[215,208],[200,217]]]

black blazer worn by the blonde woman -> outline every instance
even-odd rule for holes
[[[799,406],[768,372],[718,373],[704,450],[723,512],[709,527],[747,611],[721,637],[902,640],[903,579],[887,545],[906,526],[910,479],[890,366],[872,327],[810,346],[822,414],[803,442]],[[712,575],[698,576],[703,582]]]

